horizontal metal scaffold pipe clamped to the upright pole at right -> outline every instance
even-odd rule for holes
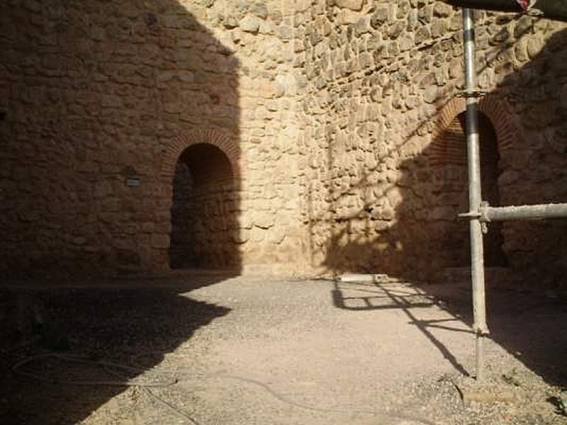
[[[481,221],[541,220],[567,217],[567,203],[490,207],[481,205]]]

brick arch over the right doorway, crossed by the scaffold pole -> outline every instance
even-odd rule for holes
[[[498,150],[504,152],[506,149],[521,140],[522,136],[517,129],[515,118],[510,105],[504,98],[495,96],[485,96],[478,102],[478,111],[483,113],[493,125],[496,132]],[[437,114],[437,125],[432,134],[433,144],[431,146],[432,155],[437,150],[435,144],[442,143],[442,134],[451,127],[454,119],[460,113],[466,111],[464,98],[452,98],[441,111]]]

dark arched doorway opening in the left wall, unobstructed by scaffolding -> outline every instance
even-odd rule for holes
[[[172,189],[170,267],[236,268],[237,188],[225,152],[208,143],[187,147],[177,160]]]

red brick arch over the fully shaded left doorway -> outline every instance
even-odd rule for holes
[[[232,167],[232,176],[240,178],[240,152],[237,141],[217,130],[211,128],[198,128],[176,137],[167,147],[162,159],[161,174],[164,179],[172,180],[175,174],[175,166],[179,156],[191,145],[208,143],[218,147],[228,157]]]

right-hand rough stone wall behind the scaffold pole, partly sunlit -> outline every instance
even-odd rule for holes
[[[439,150],[464,111],[460,11],[427,0],[310,3],[296,11],[295,64],[307,81],[302,214],[313,263],[421,280],[464,265],[462,152]],[[565,26],[482,11],[476,21],[500,202],[567,200]],[[505,261],[562,276],[566,229],[505,223]]]

